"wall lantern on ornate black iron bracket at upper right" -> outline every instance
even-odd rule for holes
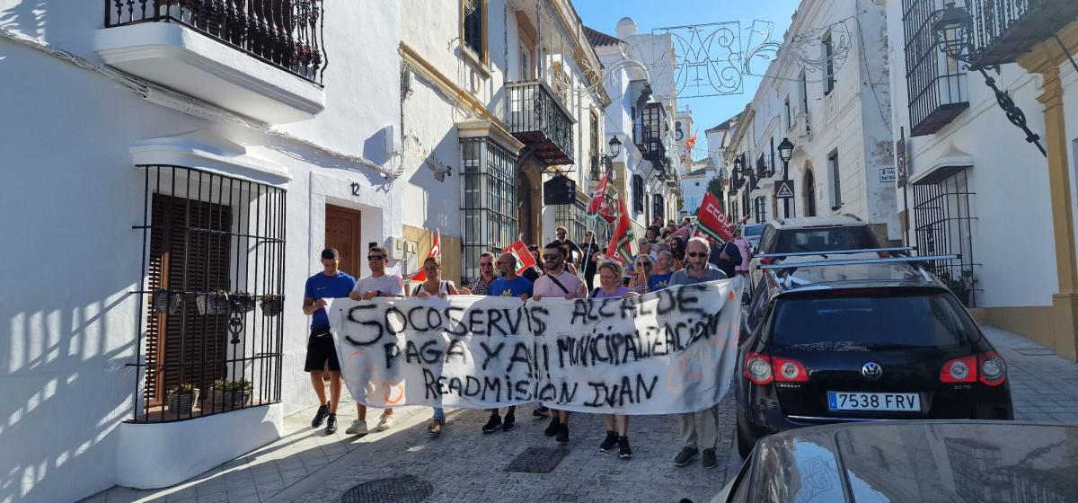
[[[955,6],[954,2],[950,1],[936,15],[936,22],[932,23],[932,36],[936,39],[936,44],[940,46],[940,51],[956,61],[965,62],[966,69],[981,72],[981,76],[984,78],[984,84],[995,93],[996,102],[999,103],[999,108],[1007,114],[1007,120],[1019,129],[1022,129],[1025,132],[1025,141],[1037,145],[1041,155],[1047,157],[1048,152],[1040,144],[1040,136],[1033,132],[1025,123],[1025,113],[1022,112],[1022,109],[1018,104],[1014,104],[1014,100],[1011,99],[1010,95],[996,86],[996,80],[989,76],[989,73],[984,71],[985,68],[993,67],[977,64],[972,43],[973,18],[969,15],[969,11],[966,8]],[[996,73],[998,73],[999,67],[996,66],[995,69]]]

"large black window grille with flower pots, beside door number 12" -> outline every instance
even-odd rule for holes
[[[128,421],[279,402],[285,190],[181,166],[140,168],[144,209],[133,228],[142,230],[144,290],[129,364],[140,400]],[[198,395],[169,392],[182,385]]]

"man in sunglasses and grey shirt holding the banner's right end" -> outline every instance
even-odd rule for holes
[[[674,273],[671,285],[696,284],[707,281],[725,279],[727,275],[718,267],[707,262],[710,255],[707,240],[695,237],[686,246],[685,269]],[[696,428],[696,415],[700,415],[700,428]],[[713,405],[697,413],[681,414],[678,417],[683,447],[674,457],[675,466],[685,466],[699,453],[697,447],[703,447],[702,464],[705,469],[718,465],[715,457],[715,446],[718,442],[719,406]],[[699,441],[699,443],[697,443]]]

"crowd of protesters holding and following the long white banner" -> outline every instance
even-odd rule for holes
[[[427,298],[448,295],[513,296],[521,299],[543,297],[611,298],[633,297],[667,287],[694,284],[746,275],[751,259],[751,246],[735,230],[734,240],[720,243],[709,237],[689,237],[689,219],[678,226],[671,220],[665,226],[655,219],[637,241],[637,253],[628,264],[606,255],[606,247],[596,242],[592,232],[584,234],[582,242],[568,237],[565,227],[557,227],[556,238],[540,248],[527,247],[536,265],[523,271],[516,268],[516,257],[511,253],[483,252],[479,256],[479,275],[467,287],[457,285],[442,278],[441,259],[427,257],[423,263],[426,279],[412,287],[411,296]],[[341,397],[341,363],[330,333],[326,313],[328,299],[350,297],[369,301],[374,297],[404,295],[401,277],[386,271],[388,252],[382,247],[368,250],[369,276],[358,280],[340,270],[340,254],[329,248],[322,251],[322,271],[312,276],[306,283],[303,312],[312,317],[310,336],[304,369],[310,373],[310,382],[321,404],[310,424],[326,432],[336,432],[337,402]],[[597,284],[596,278],[598,277]],[[326,396],[324,379],[330,382],[330,396]],[[393,410],[386,408],[373,428],[367,423],[367,407],[357,403],[358,417],[348,427],[348,434],[384,431],[393,425]],[[509,407],[505,415],[490,409],[483,425],[484,433],[508,432],[516,425],[516,407]],[[549,409],[539,405],[533,410],[537,417],[550,417],[544,430],[547,436],[557,442],[569,442],[569,413]],[[633,456],[628,443],[628,416],[604,415],[606,436],[599,450],[608,452],[616,447],[621,459]],[[427,424],[430,434],[440,434],[445,424],[442,407],[433,407]],[[682,447],[674,457],[674,464],[685,466],[697,455],[705,469],[717,465],[715,447],[718,442],[718,406],[679,417]]]

